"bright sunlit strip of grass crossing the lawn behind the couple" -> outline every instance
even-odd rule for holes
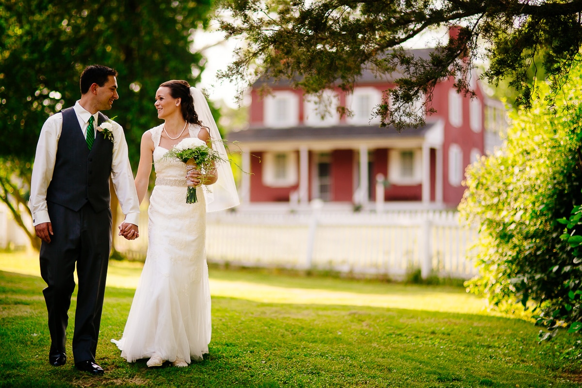
[[[109,287],[135,289],[140,262],[110,261]],[[38,255],[0,254],[0,270],[40,276]],[[279,276],[265,271],[222,270],[211,266],[212,296],[244,298],[257,302],[353,305],[408,308],[425,311],[491,314],[484,299],[459,287],[413,286],[372,280],[333,277]]]

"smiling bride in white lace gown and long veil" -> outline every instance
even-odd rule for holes
[[[214,171],[203,173],[165,156],[180,141],[198,137],[228,161],[204,95],[186,81],[172,80],[159,86],[154,105],[164,123],[141,137],[135,179],[141,203],[153,163],[147,257],[123,336],[111,341],[128,362],[150,358],[149,367],[165,361],[187,366],[208,353],[211,336],[206,212],[236,206],[239,199],[228,163],[216,163]],[[187,183],[196,186],[198,201],[193,204],[186,203]]]

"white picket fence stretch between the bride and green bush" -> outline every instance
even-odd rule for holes
[[[453,211],[209,213],[208,261],[402,277],[469,279],[474,228]]]

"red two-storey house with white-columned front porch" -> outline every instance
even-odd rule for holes
[[[501,143],[505,122],[501,102],[486,97],[473,78],[474,98],[457,94],[453,80],[437,84],[437,113],[402,133],[379,127],[371,115],[382,91],[394,87],[389,77],[365,72],[352,93],[327,92],[327,104],[285,82],[269,84],[272,94],[260,97],[268,81],[257,81],[248,129],[228,136],[240,142],[243,169],[251,173],[240,182],[242,204],[301,208],[318,199],[327,207],[455,208],[464,169]],[[338,104],[353,116],[340,118]]]

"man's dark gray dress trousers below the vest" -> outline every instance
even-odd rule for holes
[[[95,212],[86,204],[76,212],[49,202],[48,213],[51,220],[58,220],[52,222],[51,243],[43,241],[40,251],[41,275],[47,282],[42,293],[47,302],[50,352],[65,351],[76,263],[79,290],[73,356],[75,362],[95,361],[111,247],[111,211]]]

